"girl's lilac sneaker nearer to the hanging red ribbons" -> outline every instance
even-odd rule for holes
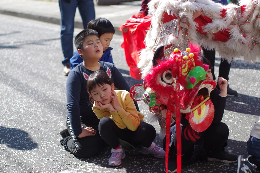
[[[141,148],[141,153],[142,154],[152,154],[154,157],[157,158],[164,158],[165,157],[165,151],[161,148],[158,147],[154,142],[150,147],[143,147]]]

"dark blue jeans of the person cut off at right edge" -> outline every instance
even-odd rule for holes
[[[258,162],[260,162],[260,139],[250,137],[247,141],[247,152],[253,155]]]

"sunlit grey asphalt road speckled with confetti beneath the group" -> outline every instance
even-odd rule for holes
[[[80,32],[75,29],[75,34]],[[129,76],[122,36],[114,35],[112,55],[128,84],[142,81]],[[60,145],[59,132],[67,116],[61,63],[60,26],[0,15],[0,172],[163,172],[165,159],[126,151],[118,167],[110,167],[110,148],[93,158],[74,157]],[[216,60],[218,74],[220,59]],[[230,153],[246,154],[246,141],[260,115],[260,64],[234,60],[230,87],[238,96],[228,98],[223,122],[229,129]],[[148,107],[139,102],[145,119]],[[159,124],[155,143],[162,146]],[[237,163],[198,160],[183,165],[182,172],[236,172]]]

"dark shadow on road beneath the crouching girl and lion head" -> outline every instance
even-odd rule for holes
[[[159,140],[158,134],[156,139]],[[155,140],[156,140],[155,139]],[[160,142],[156,142],[159,143]],[[228,139],[228,146],[225,150],[236,155],[247,153],[246,142]],[[113,168],[114,172],[120,172],[120,169],[125,169],[127,173],[134,172],[164,172],[165,159],[155,158],[152,155],[142,155],[140,152],[126,150],[126,158],[122,160],[122,164],[118,167],[108,165],[110,157],[110,147],[105,147],[99,155],[93,158],[78,158],[81,161],[94,163],[95,165],[106,168]],[[104,170],[104,171],[105,171]],[[191,164],[182,164],[181,172],[227,172],[233,173],[237,170],[237,163],[223,163],[218,161],[206,161],[197,159]],[[122,170],[121,170],[122,171]]]

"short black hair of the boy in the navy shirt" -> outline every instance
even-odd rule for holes
[[[83,31],[81,31],[80,33],[78,33],[76,35],[76,37],[74,39],[74,43],[75,43],[77,50],[78,49],[83,50],[83,42],[84,42],[85,38],[90,35],[96,35],[99,38],[98,33],[93,29],[84,29]]]

